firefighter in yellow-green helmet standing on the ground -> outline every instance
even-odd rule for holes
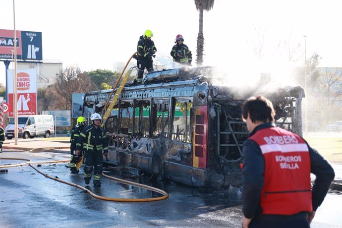
[[[70,171],[71,173],[78,173],[79,170],[76,168],[76,164],[79,162],[79,159],[82,158],[82,151],[80,152],[79,156],[75,154],[76,150],[76,142],[78,137],[80,136],[81,131],[87,124],[87,120],[83,116],[79,116],[76,120],[76,125],[71,130],[71,137],[70,137]]]

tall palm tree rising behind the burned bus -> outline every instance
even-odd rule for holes
[[[198,66],[202,65],[203,63],[203,49],[204,49],[204,36],[203,36],[203,10],[211,10],[214,6],[214,0],[194,0],[196,9],[200,11],[199,17],[199,29],[198,29],[198,36],[197,36],[197,57],[196,63]]]

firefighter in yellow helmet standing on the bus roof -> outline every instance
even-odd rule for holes
[[[153,60],[154,54],[157,52],[154,42],[151,40],[153,33],[151,30],[146,30],[145,34],[140,36],[137,47],[137,65],[138,65],[138,78],[137,82],[141,83],[145,67],[148,72],[154,71]]]

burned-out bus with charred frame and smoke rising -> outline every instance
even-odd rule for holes
[[[254,95],[273,102],[278,126],[301,135],[301,87],[242,90],[217,85],[215,76],[212,67],[184,66],[148,73],[140,85],[126,83],[104,125],[106,163],[192,186],[239,184],[249,134],[241,106]],[[111,94],[87,92],[83,110],[104,113]]]

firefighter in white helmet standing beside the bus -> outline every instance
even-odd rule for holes
[[[108,140],[104,129],[100,126],[101,115],[94,113],[90,116],[92,124],[83,128],[76,144],[76,155],[81,150],[85,152],[84,181],[90,183],[94,167],[94,186],[101,186],[103,155],[108,156]],[[103,153],[102,153],[103,151]]]

